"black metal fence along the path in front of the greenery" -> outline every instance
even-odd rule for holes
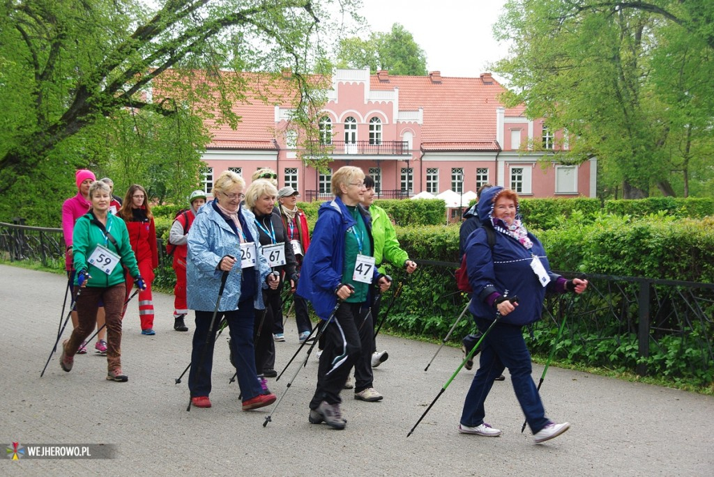
[[[170,258],[159,245],[161,270],[156,280],[173,287]],[[0,222],[2,260],[41,263],[61,270],[64,265],[62,230]],[[466,305],[456,291],[453,271],[458,264],[418,260],[419,277],[412,277],[409,292],[397,300],[387,326],[436,335]],[[401,272],[399,272],[401,273]],[[574,277],[571,272],[561,272]],[[673,280],[583,275],[590,281],[581,295],[548,296],[543,320],[533,330],[533,349],[548,353],[556,347],[558,359],[653,374],[695,378],[706,384],[714,374],[714,284]],[[403,278],[403,277],[402,277]],[[395,275],[397,282],[401,277]],[[404,318],[406,317],[406,318]],[[560,324],[564,332],[555,339]],[[414,326],[418,322],[418,326]],[[448,322],[448,323],[447,323]],[[408,329],[408,327],[410,327]]]

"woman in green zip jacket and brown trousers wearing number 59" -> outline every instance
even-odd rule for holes
[[[92,183],[89,200],[92,208],[74,225],[72,244],[76,285],[79,286],[75,299],[79,324],[71,337],[62,343],[59,364],[64,371],[71,371],[74,354],[94,331],[101,299],[106,311],[108,340],[106,379],[126,382],[129,377],[121,370],[121,315],[124,314],[126,297],[122,266],[129,270],[139,289],[145,289],[146,284],[139,275],[124,220],[109,213],[109,185],[101,181]]]

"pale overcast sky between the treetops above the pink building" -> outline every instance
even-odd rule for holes
[[[428,71],[476,77],[488,62],[506,57],[508,46],[493,39],[492,26],[506,0],[363,0],[372,31],[404,26],[426,52]]]

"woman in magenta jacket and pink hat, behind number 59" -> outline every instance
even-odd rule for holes
[[[79,217],[89,212],[91,202],[89,201],[89,186],[96,180],[94,173],[91,170],[80,169],[74,173],[77,185],[77,195],[64,201],[62,204],[62,232],[64,235],[64,268],[67,271],[67,279],[69,283],[74,283],[76,272],[74,270],[72,255],[72,235],[74,232],[74,224]],[[72,327],[76,328],[79,324],[77,312],[72,312]],[[104,304],[99,303],[99,311],[96,314],[96,324],[99,327],[99,333],[96,335],[96,344],[94,348],[98,353],[106,353],[106,329],[104,327]],[[85,354],[87,352],[86,343],[82,343],[77,354]]]

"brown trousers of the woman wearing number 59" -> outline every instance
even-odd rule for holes
[[[101,299],[106,312],[107,369],[113,371],[121,368],[121,315],[124,313],[125,289],[124,283],[107,288],[84,287],[81,289],[76,302],[79,324],[66,344],[65,352],[67,354],[74,356],[79,345],[94,332],[96,310],[99,308],[99,299]]]

